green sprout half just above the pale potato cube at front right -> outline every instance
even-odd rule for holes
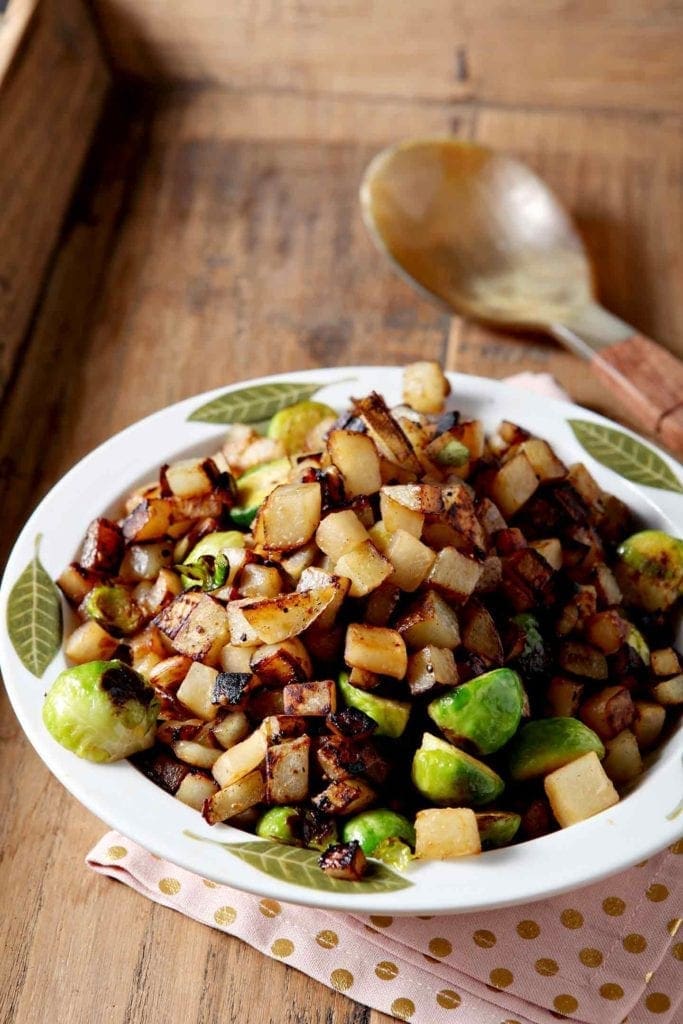
[[[510,775],[517,782],[540,778],[591,751],[605,755],[600,737],[578,718],[540,718],[523,725],[510,744]]]

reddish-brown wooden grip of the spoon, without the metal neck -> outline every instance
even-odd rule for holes
[[[683,362],[640,334],[596,352],[594,373],[629,413],[683,458]]]

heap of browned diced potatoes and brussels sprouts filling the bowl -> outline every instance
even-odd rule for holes
[[[683,699],[683,541],[449,391],[234,424],[92,522],[52,735],[342,879],[616,803]]]

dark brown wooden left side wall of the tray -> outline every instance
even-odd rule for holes
[[[13,7],[0,29],[0,394],[109,85],[81,0],[42,0],[33,17],[20,5],[10,19]]]

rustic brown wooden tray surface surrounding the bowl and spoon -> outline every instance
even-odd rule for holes
[[[36,4],[16,6],[30,19]],[[605,302],[683,354],[675,5],[229,6],[100,0],[98,36],[77,0],[46,0],[0,92],[0,205],[13,211],[0,226],[3,556],[95,444],[260,373],[416,357],[494,377],[548,370],[578,400],[625,416],[570,355],[452,322],[387,270],[356,190],[371,156],[401,136],[451,132],[527,160],[579,218]],[[26,82],[27,123],[38,94],[52,104],[29,151],[20,104],[13,120],[3,106]],[[98,119],[72,200],[65,162],[78,169]],[[23,204],[24,173],[35,182]],[[88,872],[103,826],[3,700],[0,1020],[387,1019]]]

